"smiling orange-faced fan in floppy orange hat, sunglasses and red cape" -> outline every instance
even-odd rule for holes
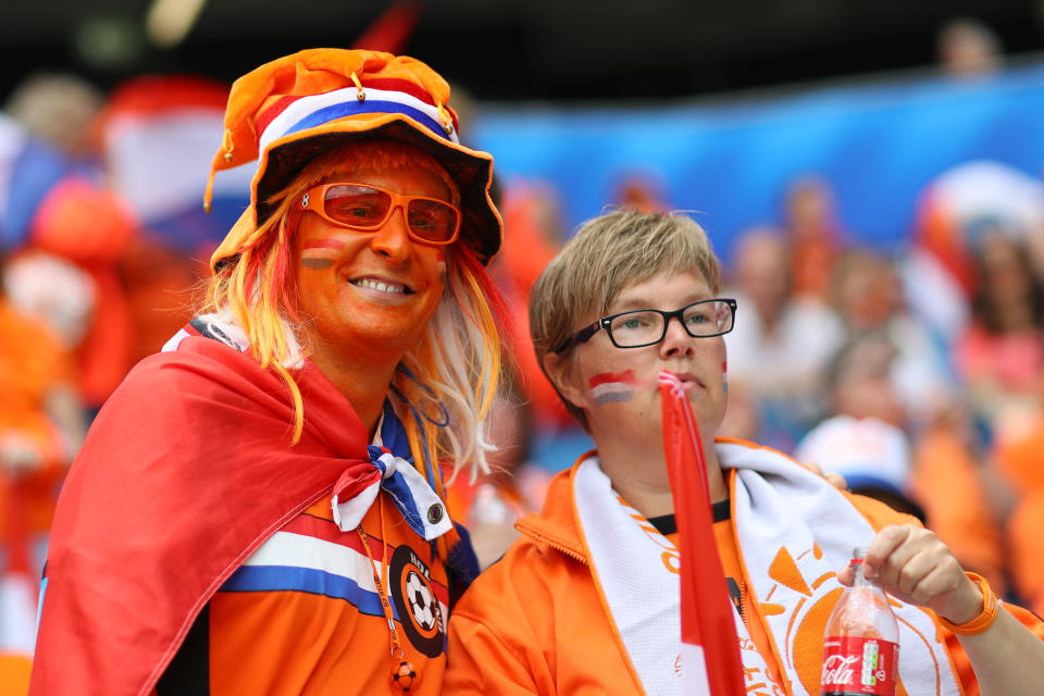
[[[493,161],[448,97],[374,51],[233,85],[251,206],[72,468],[30,693],[440,692],[474,556],[438,463],[487,470],[500,368]]]

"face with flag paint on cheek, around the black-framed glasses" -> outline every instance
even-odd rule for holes
[[[624,286],[606,313],[673,311],[712,297],[699,273],[660,273]],[[554,373],[562,395],[583,409],[596,443],[612,437],[660,447],[657,377],[661,370],[682,378],[704,439],[709,440],[721,425],[728,403],[725,344],[721,336],[694,338],[671,320],[659,344],[617,348],[605,331],[598,331],[591,340],[576,346]]]

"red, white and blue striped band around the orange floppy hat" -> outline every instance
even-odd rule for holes
[[[401,114],[440,138],[460,142],[455,124],[446,123],[450,129],[447,134],[438,108],[427,99],[401,90],[365,86],[361,92],[365,97],[362,101],[359,100],[360,89],[356,87],[281,99],[258,117],[257,126],[261,132],[259,151],[263,152],[272,142],[291,133],[363,113]]]

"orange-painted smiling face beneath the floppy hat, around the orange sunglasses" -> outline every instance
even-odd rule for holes
[[[348,166],[322,183],[370,184],[450,201],[443,177],[423,167]],[[359,232],[306,211],[294,238],[297,311],[312,358],[396,363],[423,335],[443,296],[446,247],[414,241],[401,209]]]

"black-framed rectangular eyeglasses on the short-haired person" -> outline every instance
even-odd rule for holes
[[[602,316],[594,324],[584,326],[556,352],[564,352],[576,344],[591,340],[599,328],[605,328],[609,340],[617,348],[643,348],[663,340],[667,327],[674,318],[694,338],[721,336],[732,331],[736,319],[736,300],[722,298],[700,300],[673,312],[658,309],[638,309]]]

